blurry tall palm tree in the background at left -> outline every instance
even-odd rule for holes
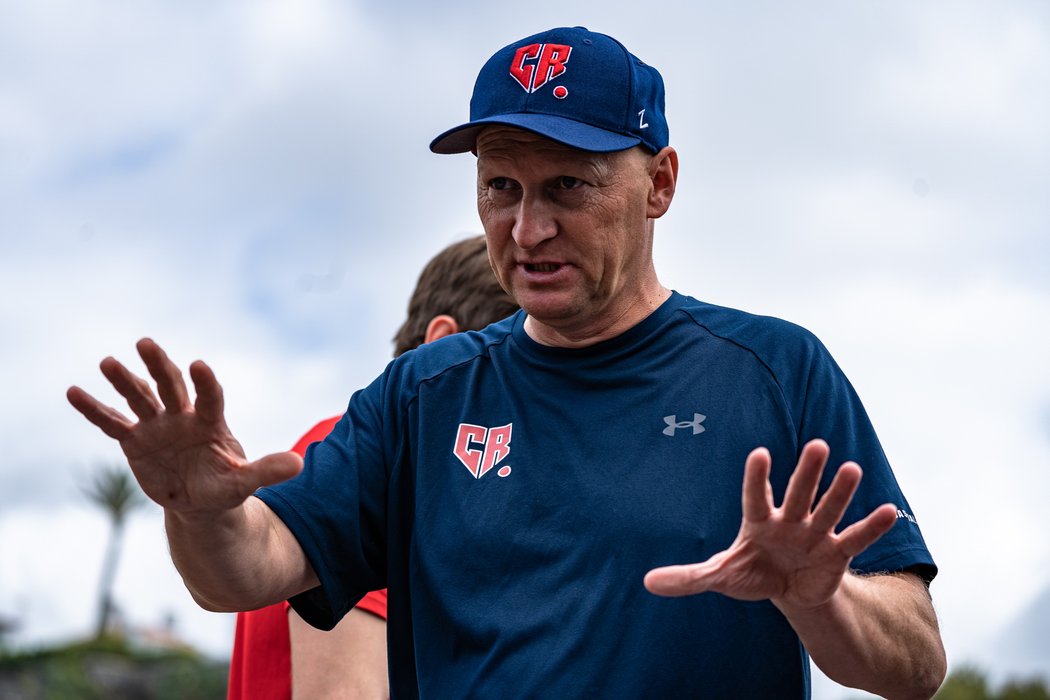
[[[106,558],[102,564],[102,577],[99,581],[99,615],[94,628],[94,636],[98,639],[106,633],[113,613],[113,578],[120,561],[124,523],[128,513],[147,502],[139,484],[123,465],[100,467],[91,484],[84,488],[84,494],[106,512],[110,525],[109,544],[106,547]]]

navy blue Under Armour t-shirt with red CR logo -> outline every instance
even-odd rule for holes
[[[330,629],[388,588],[394,697],[807,697],[808,657],[772,603],[642,584],[729,547],[759,445],[777,503],[823,438],[830,465],[864,469],[842,527],[897,505],[853,569],[936,571],[860,400],[807,331],[677,293],[586,348],[540,345],[524,320],[393,361],[301,475],[258,492],[320,579],[292,599],[306,620]]]

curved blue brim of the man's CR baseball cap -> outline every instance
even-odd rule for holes
[[[623,151],[642,143],[637,136],[606,131],[575,120],[551,114],[497,114],[448,129],[430,142],[435,153],[466,153],[472,151],[478,134],[487,126],[513,126],[532,131],[552,141],[585,151]]]

